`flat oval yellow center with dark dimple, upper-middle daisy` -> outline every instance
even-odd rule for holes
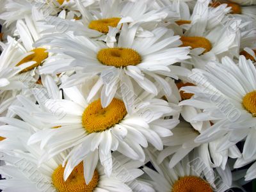
[[[141,63],[141,56],[138,52],[129,48],[105,48],[97,54],[97,59],[103,65],[115,67],[127,67]]]

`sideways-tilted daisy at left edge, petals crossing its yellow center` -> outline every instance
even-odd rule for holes
[[[29,26],[32,25],[31,31],[33,31],[33,37],[36,38],[37,33],[33,30],[35,27],[33,26],[33,22],[30,21],[30,19],[27,20]],[[0,113],[6,112],[10,104],[15,102],[15,96],[17,94],[29,94],[26,88],[33,86],[39,77],[38,74],[35,74],[35,70],[32,69],[36,65],[41,65],[42,61],[44,61],[48,55],[47,52],[44,52],[45,49],[41,47],[35,49],[36,52],[31,52],[33,48],[30,49],[29,47],[32,46],[33,39],[29,33],[28,27],[22,20],[19,20],[17,26],[18,31],[22,31],[20,32],[21,40],[17,41],[7,36],[7,42],[0,44],[3,48],[3,52],[0,56]],[[25,42],[25,44],[23,44],[23,42]],[[7,112],[7,114],[10,113]]]

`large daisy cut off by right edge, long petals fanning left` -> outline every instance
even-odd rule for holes
[[[225,57],[222,64],[209,63],[207,70],[193,69],[190,78],[197,86],[186,86],[182,90],[193,93],[194,97],[180,104],[203,109],[196,120],[214,122],[201,132],[196,142],[221,138],[218,145],[221,151],[246,138],[243,158],[255,157],[255,77],[255,66],[244,56],[240,56],[238,65]]]

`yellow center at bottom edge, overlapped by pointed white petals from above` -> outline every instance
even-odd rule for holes
[[[54,170],[52,173],[52,184],[59,192],[84,192],[93,191],[93,189],[99,183],[99,173],[97,170],[94,171],[91,182],[86,185],[84,179],[84,166],[83,163],[79,163],[72,173],[69,175],[68,179],[65,181],[63,179],[64,169],[61,165]]]

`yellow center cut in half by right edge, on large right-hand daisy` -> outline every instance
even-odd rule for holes
[[[243,98],[243,106],[253,116],[256,116],[256,91],[247,93]]]

